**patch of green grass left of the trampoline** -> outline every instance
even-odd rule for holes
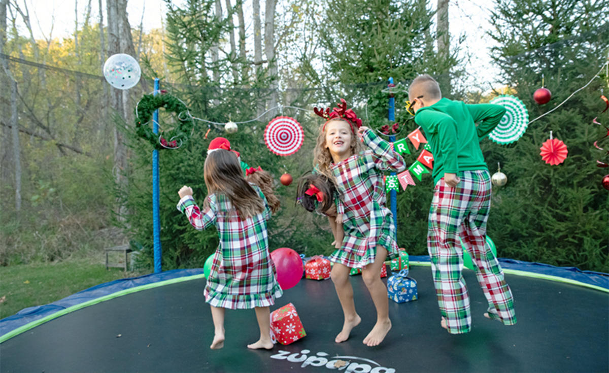
[[[135,275],[139,274],[106,269],[104,264],[85,259],[0,267],[0,319],[26,307],[49,304],[91,286]]]

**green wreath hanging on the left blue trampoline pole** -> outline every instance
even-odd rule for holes
[[[173,130],[171,139],[178,138],[181,141],[188,140],[189,132],[192,129],[192,117],[185,115],[185,118],[180,118],[180,113],[188,113],[186,105],[180,99],[172,96],[169,93],[161,91],[161,94],[153,96],[152,94],[144,94],[144,97],[139,100],[135,107],[135,129],[139,137],[149,141],[156,149],[167,149],[177,147],[177,144],[172,141],[167,144],[161,144],[164,140],[163,133],[154,133],[148,125],[152,119],[152,113],[160,107],[164,107],[166,111],[173,112],[178,115],[178,126]],[[162,140],[159,141],[159,138]]]

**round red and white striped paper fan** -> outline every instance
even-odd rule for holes
[[[300,149],[305,140],[303,127],[294,118],[278,116],[264,129],[264,143],[271,152],[285,157]]]

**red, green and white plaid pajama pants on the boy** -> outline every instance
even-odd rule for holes
[[[470,298],[461,273],[463,247],[474,264],[476,278],[488,301],[488,314],[505,325],[516,324],[510,287],[499,262],[486,245],[491,182],[487,170],[462,171],[452,188],[444,179],[435,185],[429,210],[428,250],[438,305],[448,332],[470,332]]]

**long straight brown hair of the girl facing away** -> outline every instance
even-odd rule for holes
[[[211,152],[205,159],[203,176],[208,193],[227,196],[242,219],[264,211],[264,201],[245,181],[241,166],[233,152],[224,149]]]

